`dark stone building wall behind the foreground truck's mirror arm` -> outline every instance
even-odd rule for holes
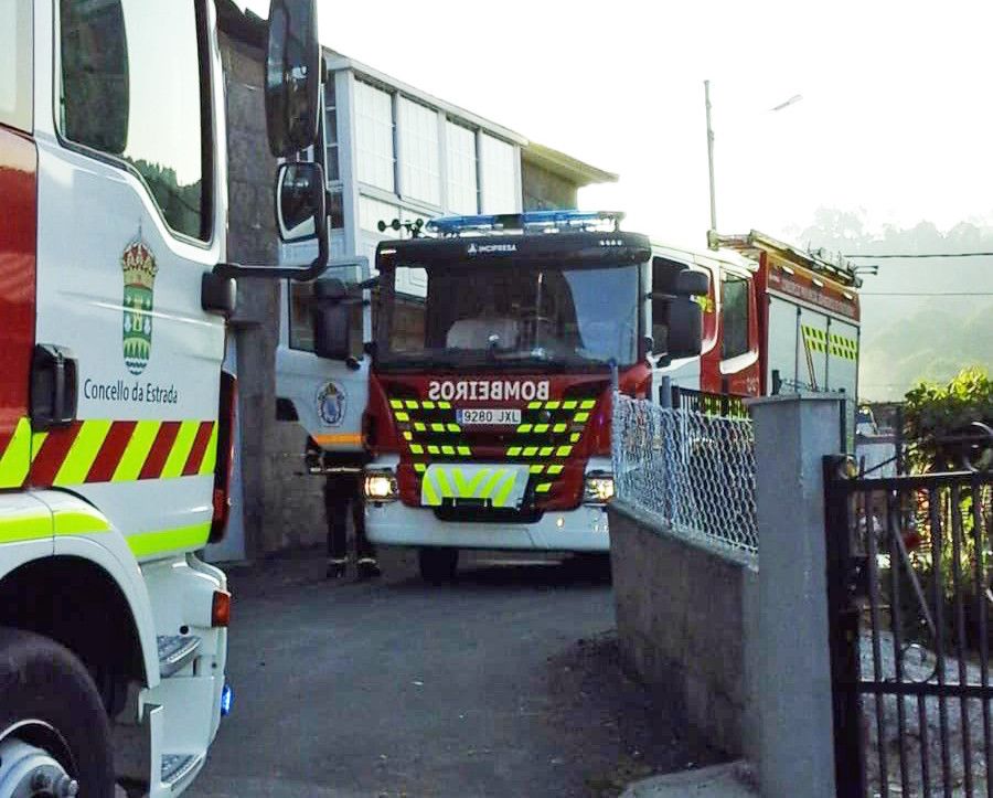
[[[227,94],[228,258],[275,264],[276,160],[268,149],[264,51],[222,35]],[[275,373],[279,284],[243,279],[231,323],[237,351],[243,515],[247,556],[324,540],[321,480],[303,476],[306,434],[276,421]]]

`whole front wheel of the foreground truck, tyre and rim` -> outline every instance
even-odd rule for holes
[[[0,798],[114,798],[110,725],[86,667],[0,628]]]

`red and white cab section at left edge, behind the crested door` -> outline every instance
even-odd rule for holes
[[[0,7],[0,489],[20,488],[31,460],[28,386],[34,342],[38,158],[29,136],[30,22],[30,3]]]

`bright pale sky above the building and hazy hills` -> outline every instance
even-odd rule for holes
[[[318,6],[323,45],[619,173],[580,205],[628,230],[705,245],[705,78],[722,232],[993,221],[991,3]]]

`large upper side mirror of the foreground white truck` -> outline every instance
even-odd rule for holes
[[[266,52],[266,130],[276,158],[313,145],[321,85],[314,0],[273,0]]]

